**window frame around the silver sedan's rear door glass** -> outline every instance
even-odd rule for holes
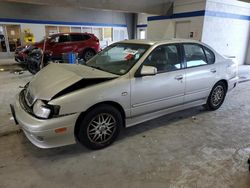
[[[196,46],[201,47],[201,49],[202,49],[202,51],[204,53],[205,59],[206,59],[206,64],[205,65],[197,65],[197,66],[193,66],[193,67],[187,67],[187,60],[186,60],[184,45],[196,45]],[[183,58],[183,62],[184,62],[184,69],[191,69],[191,68],[196,68],[196,67],[208,66],[208,65],[214,64],[215,61],[216,61],[214,52],[212,50],[210,50],[208,47],[206,47],[206,46],[204,46],[202,44],[195,43],[195,42],[183,42],[183,43],[181,43],[181,49],[182,49],[182,58]],[[206,55],[206,52],[205,52],[204,49],[207,49],[208,52],[212,52],[212,55],[214,56],[214,62],[213,63],[208,63],[207,55]]]

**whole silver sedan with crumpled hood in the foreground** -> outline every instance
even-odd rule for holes
[[[216,110],[237,82],[236,64],[203,43],[125,40],[86,65],[48,65],[11,109],[40,148],[79,141],[100,149],[122,126],[199,105]]]

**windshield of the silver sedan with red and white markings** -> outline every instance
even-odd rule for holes
[[[123,75],[134,66],[149,47],[149,45],[144,44],[113,44],[90,59],[86,65]]]

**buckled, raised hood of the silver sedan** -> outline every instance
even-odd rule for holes
[[[84,84],[89,86],[88,82],[92,84],[100,83],[93,82],[93,80],[105,81],[116,77],[118,76],[115,74],[84,65],[51,63],[34,76],[27,90],[32,96],[33,102],[36,99],[49,101],[59,92],[83,80]],[[81,84],[80,88],[84,88],[85,85]]]

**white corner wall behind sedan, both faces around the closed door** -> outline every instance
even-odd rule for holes
[[[223,55],[235,56],[238,64],[250,64],[250,21],[237,17],[250,16],[250,4],[236,0],[174,1],[174,14],[199,10],[205,10],[206,15],[149,21],[148,39],[173,38],[176,22],[190,21],[193,39],[209,44]],[[226,14],[220,15],[220,12]]]

